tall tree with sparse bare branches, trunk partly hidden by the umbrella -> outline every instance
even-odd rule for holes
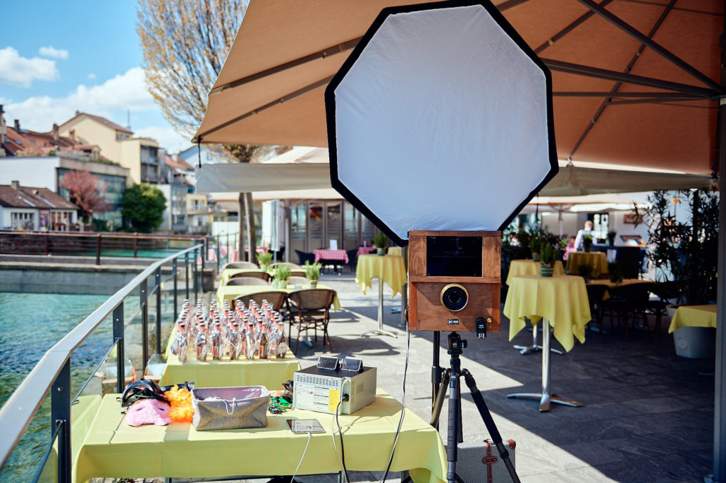
[[[144,51],[147,88],[166,119],[189,137],[202,123],[207,96],[240,27],[244,0],[139,0],[136,33]],[[252,162],[266,146],[225,146],[230,160]],[[240,193],[240,256],[246,233],[255,260],[252,195]],[[246,228],[246,230],[244,229]]]

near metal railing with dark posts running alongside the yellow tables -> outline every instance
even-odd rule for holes
[[[126,297],[136,296],[139,300],[139,306],[142,315],[142,359],[143,368],[146,372],[146,365],[149,360],[148,354],[148,322],[149,322],[149,286],[147,279],[153,276],[153,289],[156,292],[156,347],[158,354],[161,353],[161,268],[162,265],[171,262],[174,297],[174,317],[179,311],[178,299],[178,280],[179,272],[177,271],[179,259],[184,263],[184,279],[185,294],[189,299],[189,290],[193,290],[195,302],[200,292],[200,270],[204,273],[203,255],[204,244],[196,244],[193,247],[176,252],[174,255],[159,260],[149,265],[142,273],[139,273],[133,280],[123,286],[121,290],[113,294],[100,307],[94,310],[91,315],[86,317],[75,329],[70,331],[57,344],[51,347],[45,355],[38,361],[36,366],[23,379],[23,382],[15,389],[15,392],[9,397],[2,408],[0,408],[0,468],[9,458],[10,453],[23,437],[23,433],[28,429],[33,416],[38,412],[41,403],[46,394],[51,392],[51,445],[57,438],[57,479],[59,482],[71,481],[71,450],[70,450],[70,407],[73,401],[81,395],[83,388],[94,377],[91,376],[86,383],[82,385],[81,390],[73,396],[70,390],[70,357],[73,351],[81,346],[84,340],[88,338],[97,327],[105,321],[108,315],[113,314],[113,344],[109,353],[116,347],[117,363],[116,363],[116,392],[123,392],[126,384],[125,381],[125,358],[123,355],[123,306]],[[192,260],[189,260],[192,255]],[[200,267],[197,260],[201,258]],[[190,263],[191,262],[191,263]],[[189,286],[189,269],[191,268],[192,287]],[[40,468],[45,464],[50,450],[46,450],[45,457],[40,463]],[[36,480],[40,474],[36,475]]]

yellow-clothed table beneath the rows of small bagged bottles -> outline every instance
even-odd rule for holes
[[[284,359],[229,360],[226,355],[222,360],[200,362],[193,347],[189,347],[187,362],[182,364],[171,353],[175,336],[176,328],[171,332],[166,347],[166,369],[161,375],[161,386],[193,381],[196,387],[264,386],[277,390],[282,389],[282,383],[293,379],[295,371],[300,370],[300,363],[289,349]]]

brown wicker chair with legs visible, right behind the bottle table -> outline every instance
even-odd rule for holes
[[[290,331],[287,339],[292,340],[293,326],[298,329],[295,339],[295,353],[298,352],[300,344],[300,333],[302,331],[315,331],[315,342],[317,342],[317,331],[322,330],[322,343],[333,352],[330,344],[330,336],[327,334],[327,323],[330,321],[330,306],[335,300],[335,290],[332,289],[303,289],[292,292],[288,295],[290,301]]]

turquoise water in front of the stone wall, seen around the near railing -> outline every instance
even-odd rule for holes
[[[0,406],[46,350],[83,321],[106,295],[0,293]],[[113,342],[110,321],[102,323],[71,359],[72,394],[91,375]],[[50,399],[46,397],[5,465],[0,482],[28,482],[50,439]]]

